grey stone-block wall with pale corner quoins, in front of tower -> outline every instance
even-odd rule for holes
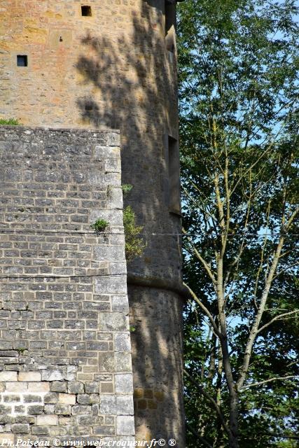
[[[130,439],[119,132],[0,127],[0,158],[0,442]]]

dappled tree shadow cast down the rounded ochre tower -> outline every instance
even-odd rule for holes
[[[165,148],[165,136],[171,133],[168,114],[177,115],[176,66],[165,57],[163,3],[142,1],[140,13],[132,10],[132,23],[125,23],[130,31],[122,32],[119,22],[117,37],[114,31],[111,37],[85,34],[76,70],[87,93],[77,99],[77,106],[85,123],[120,129],[123,183],[134,187],[127,204],[144,225],[147,243],[144,258],[130,263],[129,272],[153,282],[179,283],[178,237],[172,234],[180,232],[180,221],[168,211]],[[181,299],[162,289],[129,286],[129,292],[136,327],[134,388],[146,390],[137,402],[137,434],[174,437],[183,447],[183,427],[174,418],[178,408],[182,412]],[[144,405],[153,409],[144,410]]]

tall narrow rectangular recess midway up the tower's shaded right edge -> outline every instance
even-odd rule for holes
[[[168,136],[169,211],[181,214],[181,190],[179,174],[179,144]]]

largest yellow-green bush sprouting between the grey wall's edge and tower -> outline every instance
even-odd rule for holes
[[[146,244],[138,235],[143,227],[135,224],[135,214],[130,206],[125,207],[123,211],[123,227],[125,230],[125,258],[127,261],[131,261],[141,257]]]

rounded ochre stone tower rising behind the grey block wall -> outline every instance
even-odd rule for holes
[[[1,0],[0,117],[26,126],[120,129],[122,182],[133,186],[125,203],[146,242],[144,255],[127,265],[136,435],[174,437],[183,448],[175,5],[169,3]],[[91,15],[82,15],[84,5]],[[27,56],[27,66],[18,66],[18,55]]]

